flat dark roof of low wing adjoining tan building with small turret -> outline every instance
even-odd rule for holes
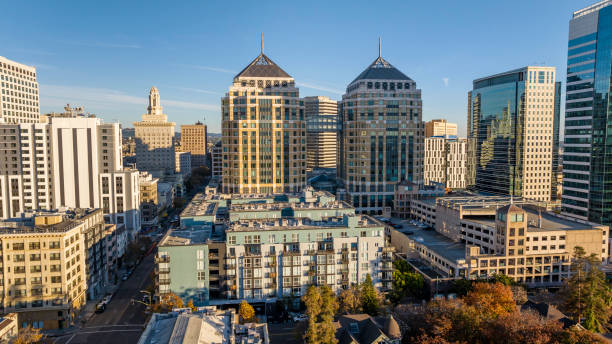
[[[465,244],[455,242],[433,229],[426,230],[417,226],[406,225],[403,229],[397,231],[407,235],[419,244],[425,245],[444,259],[453,262],[465,259]]]

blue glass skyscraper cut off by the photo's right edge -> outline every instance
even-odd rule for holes
[[[569,24],[562,212],[612,224],[612,1],[574,12]]]

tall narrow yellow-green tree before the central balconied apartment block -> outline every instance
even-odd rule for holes
[[[308,344],[336,344],[334,315],[338,311],[336,295],[329,286],[311,286],[302,298],[308,315],[304,340]]]

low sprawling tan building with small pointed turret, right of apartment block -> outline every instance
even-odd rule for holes
[[[608,226],[547,212],[535,201],[461,196],[413,203],[415,210],[427,203],[414,214],[435,231],[392,230],[391,244],[416,253],[413,263],[433,268],[441,280],[505,274],[530,287],[558,287],[570,275],[576,246],[602,261],[609,256]]]

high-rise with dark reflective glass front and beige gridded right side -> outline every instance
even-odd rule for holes
[[[468,135],[476,190],[551,200],[555,95],[554,67],[474,80]]]

